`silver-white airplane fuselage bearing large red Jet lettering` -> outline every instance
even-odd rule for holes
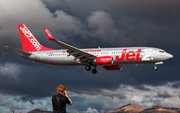
[[[164,62],[171,59],[173,56],[162,49],[152,47],[121,47],[121,48],[92,48],[92,49],[80,49],[87,53],[93,54],[97,57],[111,56],[111,64],[103,65],[115,65],[115,64],[150,64]],[[66,50],[51,50],[32,52],[32,55],[22,55],[23,58],[41,62],[51,65],[60,66],[76,66],[87,65],[80,62],[78,58],[75,58]],[[96,64],[93,62],[94,65]]]

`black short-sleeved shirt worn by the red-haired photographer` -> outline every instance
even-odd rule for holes
[[[52,97],[53,113],[66,113],[66,104],[70,104],[70,101],[66,96],[61,94],[54,95]]]

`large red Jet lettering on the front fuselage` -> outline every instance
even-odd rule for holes
[[[121,57],[116,56],[116,60],[123,61],[124,59],[126,59],[127,61],[134,61],[136,59],[137,61],[141,61],[141,49],[138,49],[137,51],[129,51],[128,53],[126,53],[126,51],[127,49],[123,49]]]

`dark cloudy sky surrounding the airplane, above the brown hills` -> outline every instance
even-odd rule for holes
[[[64,85],[75,113],[101,113],[126,104],[180,108],[179,0],[0,0],[0,112],[52,111],[51,97]],[[25,24],[45,47],[47,27],[58,40],[77,48],[157,47],[174,58],[158,66],[52,66],[21,58],[17,24]]]

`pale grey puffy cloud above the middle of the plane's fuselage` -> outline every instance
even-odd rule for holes
[[[115,28],[115,22],[111,16],[104,11],[95,11],[88,17],[89,28],[92,29],[91,35],[93,37],[101,38],[104,41],[115,42],[125,41],[123,31]],[[125,32],[125,31],[124,31]],[[113,38],[111,38],[113,37]],[[126,37],[125,37],[126,38]],[[129,42],[128,38],[126,41]]]

